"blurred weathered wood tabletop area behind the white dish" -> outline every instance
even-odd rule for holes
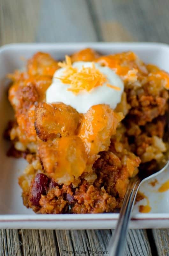
[[[0,44],[98,38],[168,43],[168,11],[168,0],[1,0]],[[98,35],[99,30],[103,37]]]

